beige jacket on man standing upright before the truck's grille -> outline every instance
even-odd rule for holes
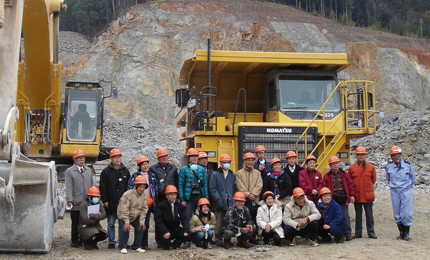
[[[255,203],[259,202],[259,195],[263,187],[263,180],[259,170],[252,168],[248,171],[246,168],[239,169],[236,173],[237,191],[242,191],[247,197],[249,194],[255,195]]]

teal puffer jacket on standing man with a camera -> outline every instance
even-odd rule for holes
[[[195,170],[195,174],[200,179],[200,189],[201,195],[205,198],[208,197],[207,193],[207,178],[206,171],[200,165],[197,165],[197,169]],[[183,166],[179,171],[179,176],[177,179],[177,191],[179,194],[179,201],[189,200],[189,195],[191,194],[191,184],[194,180],[194,173],[192,173],[189,165]]]

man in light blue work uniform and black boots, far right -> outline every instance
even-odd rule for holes
[[[409,240],[409,228],[412,224],[412,192],[415,183],[415,172],[412,165],[401,159],[400,147],[394,145],[389,149],[391,162],[386,164],[386,180],[391,188],[391,203],[394,220],[400,234],[397,239]]]

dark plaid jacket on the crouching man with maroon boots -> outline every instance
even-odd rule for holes
[[[242,206],[241,209],[238,209],[235,205],[232,205],[227,209],[227,212],[225,212],[221,232],[227,228],[237,234],[242,231],[242,227],[253,224],[254,222],[252,222],[251,213],[249,213],[249,209],[247,207]]]

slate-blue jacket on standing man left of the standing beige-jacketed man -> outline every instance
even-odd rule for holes
[[[233,195],[236,192],[236,176],[231,170],[228,170],[226,178],[224,178],[221,167],[212,172],[209,181],[209,194],[213,201],[213,210],[221,211],[231,207]],[[218,221],[222,221],[222,219]]]

